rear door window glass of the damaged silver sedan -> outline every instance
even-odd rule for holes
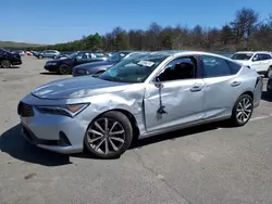
[[[224,59],[202,55],[203,77],[221,77],[232,75],[231,68]]]

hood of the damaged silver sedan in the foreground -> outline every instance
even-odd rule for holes
[[[115,82],[90,76],[73,77],[51,81],[36,88],[32,94],[40,99],[72,99],[90,97],[101,93],[122,91],[124,82]]]

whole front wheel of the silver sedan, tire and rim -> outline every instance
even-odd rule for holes
[[[108,124],[107,131],[106,128],[102,131],[101,128],[106,124]],[[110,132],[115,132],[115,135]],[[109,160],[120,157],[129,148],[132,140],[133,127],[129,119],[121,112],[110,111],[94,119],[89,125],[84,145],[92,155]]]

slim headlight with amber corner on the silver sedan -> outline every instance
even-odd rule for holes
[[[36,109],[44,114],[64,115],[75,117],[78,113],[85,110],[89,103],[66,104],[66,105],[38,105]]]

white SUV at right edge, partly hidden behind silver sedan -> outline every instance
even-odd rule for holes
[[[268,76],[268,72],[272,69],[271,52],[236,52],[231,59],[242,63],[249,68],[256,69],[259,74]]]

